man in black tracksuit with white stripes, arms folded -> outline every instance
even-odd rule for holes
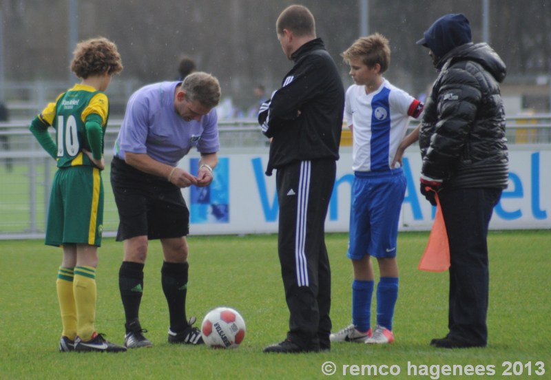
[[[307,8],[285,9],[276,28],[295,65],[260,108],[258,121],[271,138],[267,175],[277,170],[278,251],[291,316],[287,339],[264,352],[329,350],[331,270],[324,222],[339,158],[344,88]]]

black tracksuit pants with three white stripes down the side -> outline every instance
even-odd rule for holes
[[[302,348],[329,348],[331,268],[324,224],[335,160],[293,162],[276,175],[278,252],[289,317],[287,338]]]

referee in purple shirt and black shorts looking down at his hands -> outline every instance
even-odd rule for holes
[[[154,83],[129,98],[114,147],[111,184],[118,209],[117,241],[124,243],[118,284],[125,309],[125,346],[152,346],[139,320],[143,268],[149,240],[163,247],[161,282],[167,298],[173,344],[202,344],[200,330],[187,320],[189,210],[181,188],[208,186],[218,163],[218,80],[205,72],[183,82]],[[201,154],[198,175],[178,167],[192,147]]]

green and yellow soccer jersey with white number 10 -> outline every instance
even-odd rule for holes
[[[74,85],[48,104],[39,115],[46,124],[56,130],[57,167],[76,165],[94,166],[83,149],[90,151],[86,134],[86,118],[92,114],[101,118],[101,151],[103,136],[109,118],[109,101],[103,92],[87,85]]]

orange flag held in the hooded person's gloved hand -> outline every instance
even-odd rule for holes
[[[435,193],[436,215],[433,229],[430,230],[428,243],[425,252],[419,262],[419,268],[422,271],[442,272],[450,267],[450,245],[448,244],[448,233],[444,216],[440,207],[438,194]]]

